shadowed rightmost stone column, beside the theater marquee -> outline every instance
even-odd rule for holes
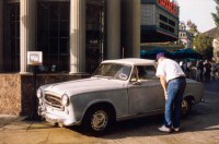
[[[126,58],[140,57],[141,0],[122,0],[122,47]]]

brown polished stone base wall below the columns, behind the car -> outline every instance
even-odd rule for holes
[[[44,84],[88,77],[87,74],[0,74],[0,115],[32,116],[36,112],[36,89]]]

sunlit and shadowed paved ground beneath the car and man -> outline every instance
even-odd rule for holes
[[[183,119],[180,133],[157,131],[163,116],[118,122],[111,133],[100,137],[84,135],[78,127],[56,128],[47,122],[0,116],[0,144],[218,144],[218,87],[219,82],[205,84],[205,103],[194,106],[192,115]]]

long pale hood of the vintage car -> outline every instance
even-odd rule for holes
[[[127,87],[126,83],[119,80],[91,77],[51,84],[45,91],[58,94],[59,96],[64,94],[71,96],[90,92],[125,88]]]

